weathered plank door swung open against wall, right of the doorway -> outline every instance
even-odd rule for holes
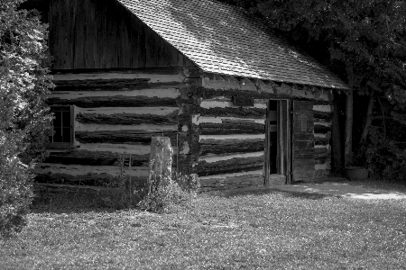
[[[292,179],[309,180],[314,176],[313,103],[293,101],[292,105]]]

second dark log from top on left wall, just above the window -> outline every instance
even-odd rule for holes
[[[74,99],[61,99],[51,97],[46,100],[49,105],[76,105],[82,108],[95,107],[177,107],[176,99],[174,98],[158,98],[146,96],[125,96],[125,95],[110,95],[110,96],[87,96]]]

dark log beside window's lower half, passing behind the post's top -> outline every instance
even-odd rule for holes
[[[75,132],[75,139],[81,143],[113,143],[113,144],[142,144],[151,143],[153,136],[167,136],[171,138],[171,144],[176,145],[176,131],[148,132],[140,130],[120,131],[78,131]]]

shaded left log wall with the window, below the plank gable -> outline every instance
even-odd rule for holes
[[[47,102],[74,105],[74,148],[50,148],[34,171],[37,181],[106,185],[119,174],[124,155],[125,174],[143,183],[152,136],[170,137],[177,153],[180,89],[188,89],[189,76],[180,68],[54,75]]]

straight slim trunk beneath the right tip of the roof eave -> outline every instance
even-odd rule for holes
[[[353,90],[348,91],[346,96],[346,140],[344,148],[344,166],[353,160]]]

